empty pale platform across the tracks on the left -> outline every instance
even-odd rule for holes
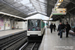
[[[25,29],[5,30],[0,32],[0,38],[25,31]]]

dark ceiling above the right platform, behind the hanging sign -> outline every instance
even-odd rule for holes
[[[59,6],[59,8],[67,8],[67,14],[53,15],[53,19],[55,21],[70,16],[70,14],[75,15],[75,0],[64,0],[62,4]]]

